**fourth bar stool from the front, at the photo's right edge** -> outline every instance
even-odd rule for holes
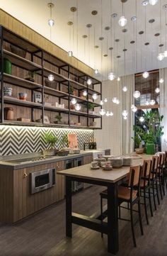
[[[165,189],[164,189],[164,169],[163,169],[163,165],[164,165],[164,157],[165,155],[160,152],[159,153],[159,165],[158,165],[158,169],[157,169],[157,179],[159,182],[159,188],[160,188],[160,194],[161,194],[161,199],[163,199],[162,196],[162,189],[163,189],[163,194],[165,196]]]

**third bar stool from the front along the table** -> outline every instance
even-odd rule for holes
[[[159,164],[159,157],[158,157],[158,155],[154,155],[152,157],[152,162],[151,162],[150,182],[151,182],[151,189],[152,189],[152,194],[153,194],[153,199],[154,199],[154,208],[155,208],[155,210],[156,210],[156,196],[157,196],[158,204],[160,204],[159,189],[158,189],[158,182],[157,182],[158,164]]]

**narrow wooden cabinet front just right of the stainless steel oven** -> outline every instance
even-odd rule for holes
[[[64,161],[59,161],[55,163],[55,168],[57,170],[57,172],[60,172],[64,169],[65,165],[64,165]],[[65,194],[65,190],[64,190],[64,175],[59,175],[56,174],[56,201],[62,200],[64,199],[64,194]]]

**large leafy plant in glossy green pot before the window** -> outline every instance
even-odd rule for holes
[[[161,135],[163,135],[162,120],[163,116],[159,116],[159,112],[148,111],[144,114],[144,127],[134,126],[134,132],[145,143],[147,155],[155,154],[155,144]]]

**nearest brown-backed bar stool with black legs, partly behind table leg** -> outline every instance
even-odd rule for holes
[[[138,204],[138,213],[139,213],[139,225],[142,235],[143,232],[143,226],[142,226],[142,215],[141,215],[141,208],[140,208],[140,181],[141,181],[141,174],[142,174],[142,168],[140,165],[132,166],[129,169],[129,182],[128,187],[119,186],[118,187],[118,205],[120,206],[122,203],[127,202],[129,204],[129,208],[126,208],[127,210],[130,210],[130,220],[127,220],[125,218],[121,218],[119,216],[120,220],[123,221],[130,221],[131,222],[131,228],[132,228],[132,237],[133,237],[133,243],[134,247],[137,246],[136,238],[134,235],[134,222],[133,222],[133,206],[134,204]],[[105,189],[100,193],[100,206],[101,206],[101,216],[103,216],[103,199],[108,198],[108,191]],[[125,208],[124,206],[120,206],[122,208]],[[105,213],[105,217],[107,217],[107,214]],[[103,218],[101,218],[103,220]]]

